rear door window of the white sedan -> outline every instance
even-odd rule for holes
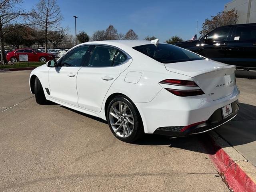
[[[88,66],[90,67],[108,67],[112,66],[116,49],[107,46],[95,46]]]

